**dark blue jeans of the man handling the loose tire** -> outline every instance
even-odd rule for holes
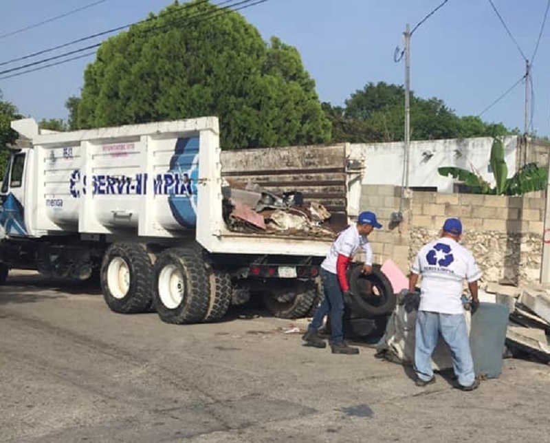
[[[323,318],[329,312],[331,313],[331,343],[338,344],[344,341],[344,332],[342,331],[342,317],[344,316],[344,294],[340,288],[338,276],[321,268],[321,279],[323,288],[325,288],[325,299],[323,299],[313,321],[307,328],[310,332],[317,332],[322,326]]]

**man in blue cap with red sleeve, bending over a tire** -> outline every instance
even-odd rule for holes
[[[325,299],[309,324],[303,336],[305,345],[326,347],[318,330],[327,314],[331,314],[331,349],[333,354],[359,354],[359,349],[344,343],[342,319],[344,316],[344,299],[351,299],[347,268],[360,248],[364,251],[365,262],[363,272],[373,272],[373,250],[366,238],[374,228],[382,228],[377,222],[376,214],[366,210],[360,213],[357,224],[352,224],[342,230],[333,241],[329,254],[321,263],[321,278],[325,289]]]

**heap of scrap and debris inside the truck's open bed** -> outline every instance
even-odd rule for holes
[[[307,235],[332,238],[331,213],[318,202],[304,202],[298,191],[276,195],[259,184],[225,179],[223,219],[229,230],[240,233]]]

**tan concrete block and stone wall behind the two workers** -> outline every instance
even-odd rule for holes
[[[402,204],[404,222],[391,226],[399,209],[397,186],[365,185],[361,209],[374,210],[384,229],[371,235],[375,261],[393,259],[405,274],[419,248],[439,236],[448,217],[461,219],[461,243],[472,250],[483,282],[538,281],[542,262],[545,198],[415,192]]]

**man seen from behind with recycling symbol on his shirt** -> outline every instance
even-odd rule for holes
[[[445,220],[441,238],[423,246],[412,263],[409,292],[415,292],[422,274],[420,303],[415,332],[416,385],[435,381],[431,356],[439,334],[451,351],[458,387],[472,391],[479,385],[474,374],[464,308],[461,301],[463,281],[472,294],[472,314],[479,305],[478,279],[481,277],[472,253],[459,244],[462,224],[459,219]]]

